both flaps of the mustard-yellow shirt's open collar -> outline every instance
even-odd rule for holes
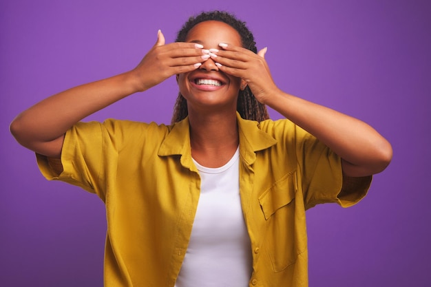
[[[238,112],[237,121],[240,133],[240,154],[248,164],[253,164],[256,158],[255,152],[268,149],[275,145],[277,140],[262,131],[259,123],[254,120],[244,120]],[[158,150],[158,156],[182,155],[182,163],[191,161],[189,127],[188,117],[172,125]]]

